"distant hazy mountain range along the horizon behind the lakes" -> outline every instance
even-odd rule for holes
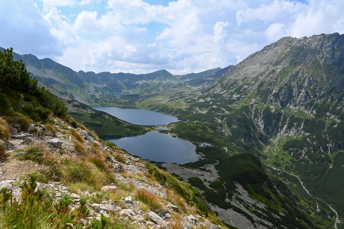
[[[1,50],[3,48],[0,47]],[[232,66],[200,73],[175,76],[166,70],[147,74],[73,71],[50,58],[38,59],[32,54],[13,53],[15,60],[23,60],[33,78],[47,87],[79,102],[91,105],[109,105],[113,96],[151,95],[171,90],[189,90],[209,85],[219,79]]]

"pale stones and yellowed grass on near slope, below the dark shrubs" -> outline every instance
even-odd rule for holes
[[[22,184],[28,174],[35,173],[35,191],[45,190],[53,206],[69,200],[68,211],[75,214],[84,205],[85,214],[76,219],[79,226],[88,228],[106,217],[125,228],[223,228],[197,213],[168,184],[160,185],[142,159],[105,144],[83,127],[73,128],[54,119],[46,125],[31,123],[25,131],[20,124],[8,125],[7,130],[9,138],[0,139],[6,152],[0,166],[0,189],[11,191],[12,201],[22,201]],[[57,168],[48,163],[52,161]],[[90,178],[94,185],[83,180],[84,174],[73,174],[78,167],[71,169],[72,162],[89,168],[95,165]],[[104,181],[102,175],[111,178],[104,177]]]

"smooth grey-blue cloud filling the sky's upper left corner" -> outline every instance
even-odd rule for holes
[[[0,45],[40,56],[60,55],[58,39],[33,1],[0,1]]]

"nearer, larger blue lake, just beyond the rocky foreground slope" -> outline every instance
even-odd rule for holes
[[[196,146],[159,132],[106,141],[115,143],[132,155],[151,161],[184,164],[198,160]]]

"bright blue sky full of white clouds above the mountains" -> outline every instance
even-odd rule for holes
[[[337,0],[0,0],[0,46],[75,71],[237,64],[283,36],[344,33]]]

